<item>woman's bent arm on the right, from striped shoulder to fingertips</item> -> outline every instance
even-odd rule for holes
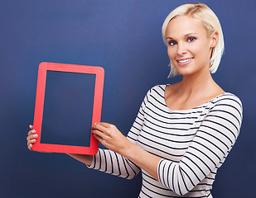
[[[94,125],[94,135],[107,148],[123,155],[179,195],[184,195],[220,167],[239,134],[239,100],[220,100],[205,116],[181,161],[158,158],[131,144],[114,125]]]

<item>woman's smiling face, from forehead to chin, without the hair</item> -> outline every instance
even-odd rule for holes
[[[218,35],[208,35],[202,21],[191,16],[176,16],[167,25],[167,52],[171,63],[183,76],[210,73],[210,54]]]

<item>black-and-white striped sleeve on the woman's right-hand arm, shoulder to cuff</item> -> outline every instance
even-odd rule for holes
[[[191,191],[210,172],[219,168],[239,135],[242,105],[237,97],[228,96],[212,107],[196,129],[189,148],[179,162],[162,159],[158,177],[178,195]]]

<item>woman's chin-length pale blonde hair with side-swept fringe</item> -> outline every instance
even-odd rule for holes
[[[220,59],[222,57],[222,54],[224,52],[224,38],[222,29],[220,26],[220,21],[218,17],[215,15],[215,12],[213,12],[210,7],[207,7],[203,3],[186,3],[184,5],[181,5],[180,7],[176,7],[175,10],[173,10],[166,18],[166,20],[162,24],[162,38],[167,45],[166,40],[166,31],[167,31],[167,25],[168,23],[174,19],[176,16],[191,16],[196,19],[199,19],[203,22],[205,29],[209,35],[215,34],[217,32],[219,34],[219,41],[218,44],[213,48],[212,54],[210,57],[210,73],[215,73],[217,68],[220,65]],[[171,72],[169,74],[169,77],[174,77],[178,75],[176,68],[171,63]]]

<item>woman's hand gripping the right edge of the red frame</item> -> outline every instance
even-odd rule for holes
[[[123,156],[125,156],[125,151],[128,151],[129,146],[132,145],[115,125],[109,123],[95,123],[92,133],[104,147]]]

